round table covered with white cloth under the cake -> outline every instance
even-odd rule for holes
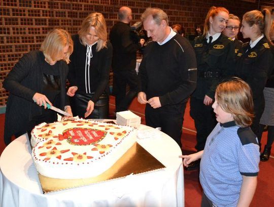
[[[141,125],[139,130],[152,129]],[[166,168],[74,189],[43,194],[32,162],[27,134],[10,143],[0,157],[0,206],[184,206],[181,149],[166,134],[138,139]]]

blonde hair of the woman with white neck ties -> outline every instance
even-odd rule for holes
[[[98,36],[98,42],[96,51],[100,51],[102,48],[107,47],[107,24],[104,16],[101,13],[94,12],[89,14],[82,22],[81,29],[78,31],[80,42],[86,46],[87,42],[85,36],[89,33],[90,27],[93,26]]]

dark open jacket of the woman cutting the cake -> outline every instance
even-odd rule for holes
[[[59,70],[60,101],[56,107],[63,110],[68,104],[65,91],[67,64],[58,61],[54,66],[50,66],[41,51],[24,54],[3,82],[3,86],[10,92],[5,119],[5,143],[11,142],[13,134],[27,130],[32,117],[42,114],[42,107],[33,102],[32,97],[35,93],[42,93],[44,67],[54,67]]]

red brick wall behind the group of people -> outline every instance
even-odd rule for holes
[[[274,7],[273,0],[260,1],[260,5]],[[195,23],[203,22],[211,6],[226,7],[231,13],[242,16],[258,8],[256,3],[239,0],[0,0],[0,106],[5,105],[8,92],[2,82],[24,53],[40,48],[45,34],[54,27],[76,34],[82,19],[91,12],[104,14],[108,32],[117,21],[121,6],[132,9],[133,23],[140,20],[147,7],[163,9],[170,25],[180,23],[186,34],[195,33]]]

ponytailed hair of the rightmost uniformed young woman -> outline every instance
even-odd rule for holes
[[[268,9],[263,9],[261,12],[258,10],[252,10],[244,14],[243,20],[245,20],[249,26],[257,24],[259,26],[259,34],[264,34],[268,42],[270,42],[269,31],[271,27],[271,13]]]

